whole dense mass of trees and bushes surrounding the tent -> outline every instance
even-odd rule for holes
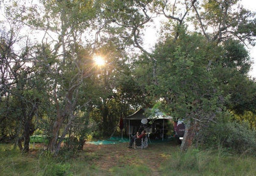
[[[246,46],[255,44],[256,18],[239,1],[0,2],[0,142],[28,153],[30,136],[44,135],[57,156],[63,142],[81,150],[139,106],[157,104],[184,118],[182,151],[195,144],[255,154]],[[160,17],[148,49],[143,32]]]

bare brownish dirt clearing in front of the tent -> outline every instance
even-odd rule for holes
[[[107,171],[114,166],[122,167],[127,164],[144,163],[151,169],[152,175],[159,175],[160,164],[170,157],[172,151],[178,150],[178,145],[175,142],[151,143],[148,148],[143,150],[134,150],[127,148],[127,146],[128,143],[115,145],[86,144],[84,151],[92,157],[93,155],[96,156],[93,158],[94,163],[102,170]]]

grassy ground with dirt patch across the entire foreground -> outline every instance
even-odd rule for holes
[[[174,142],[151,143],[145,150],[86,144],[76,155],[52,158],[42,148],[22,154],[0,145],[0,175],[256,175],[256,157],[222,150],[180,153]]]

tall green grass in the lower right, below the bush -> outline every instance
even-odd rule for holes
[[[162,175],[256,175],[255,161],[255,156],[191,149],[186,153],[175,153],[162,164],[161,171]]]

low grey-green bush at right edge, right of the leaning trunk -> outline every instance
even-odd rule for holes
[[[202,142],[208,147],[223,147],[239,154],[255,154],[256,132],[246,122],[212,124],[201,131]]]

